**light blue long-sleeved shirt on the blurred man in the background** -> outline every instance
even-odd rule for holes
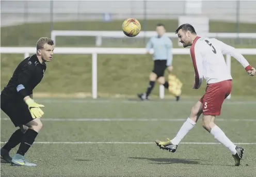
[[[166,60],[167,66],[171,66],[172,64],[172,41],[166,35],[162,37],[154,36],[151,37],[149,42],[147,43],[147,51],[153,48],[153,60]]]

